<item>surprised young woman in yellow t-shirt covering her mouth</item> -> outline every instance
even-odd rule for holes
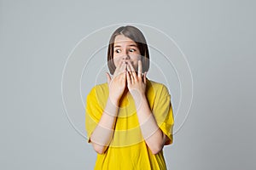
[[[108,83],[87,96],[85,125],[98,153],[95,169],[165,170],[163,147],[172,144],[171,96],[148,80],[148,45],[134,26],[121,26],[108,45]]]

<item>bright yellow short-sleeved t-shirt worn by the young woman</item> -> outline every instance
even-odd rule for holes
[[[147,79],[146,95],[154,118],[166,134],[166,144],[172,144],[173,115],[171,96],[165,85]],[[87,96],[85,127],[90,134],[101,119],[108,100],[108,83],[96,85]],[[99,170],[165,170],[166,162],[161,150],[154,155],[143,139],[137,120],[137,111],[130,93],[119,101],[119,116],[108,150],[98,154],[95,169]]]

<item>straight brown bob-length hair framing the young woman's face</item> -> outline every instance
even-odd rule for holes
[[[121,26],[116,31],[113,32],[108,43],[108,69],[113,75],[116,67],[113,64],[113,43],[114,39],[118,35],[124,35],[129,37],[132,41],[136,42],[137,48],[140,50],[142,56],[143,72],[148,71],[149,69],[149,52],[148,45],[143,32],[137,29],[135,26]]]

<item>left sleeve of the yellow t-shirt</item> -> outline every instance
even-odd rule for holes
[[[85,108],[85,129],[87,132],[87,142],[90,142],[90,135],[101,119],[103,107],[96,98],[96,88],[92,88],[87,95]]]

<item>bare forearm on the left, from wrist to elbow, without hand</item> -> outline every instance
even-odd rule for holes
[[[113,138],[113,128],[118,115],[118,102],[111,102],[108,99],[105,109],[102,113],[100,122],[90,135],[90,141],[97,153],[102,154],[108,149]]]

